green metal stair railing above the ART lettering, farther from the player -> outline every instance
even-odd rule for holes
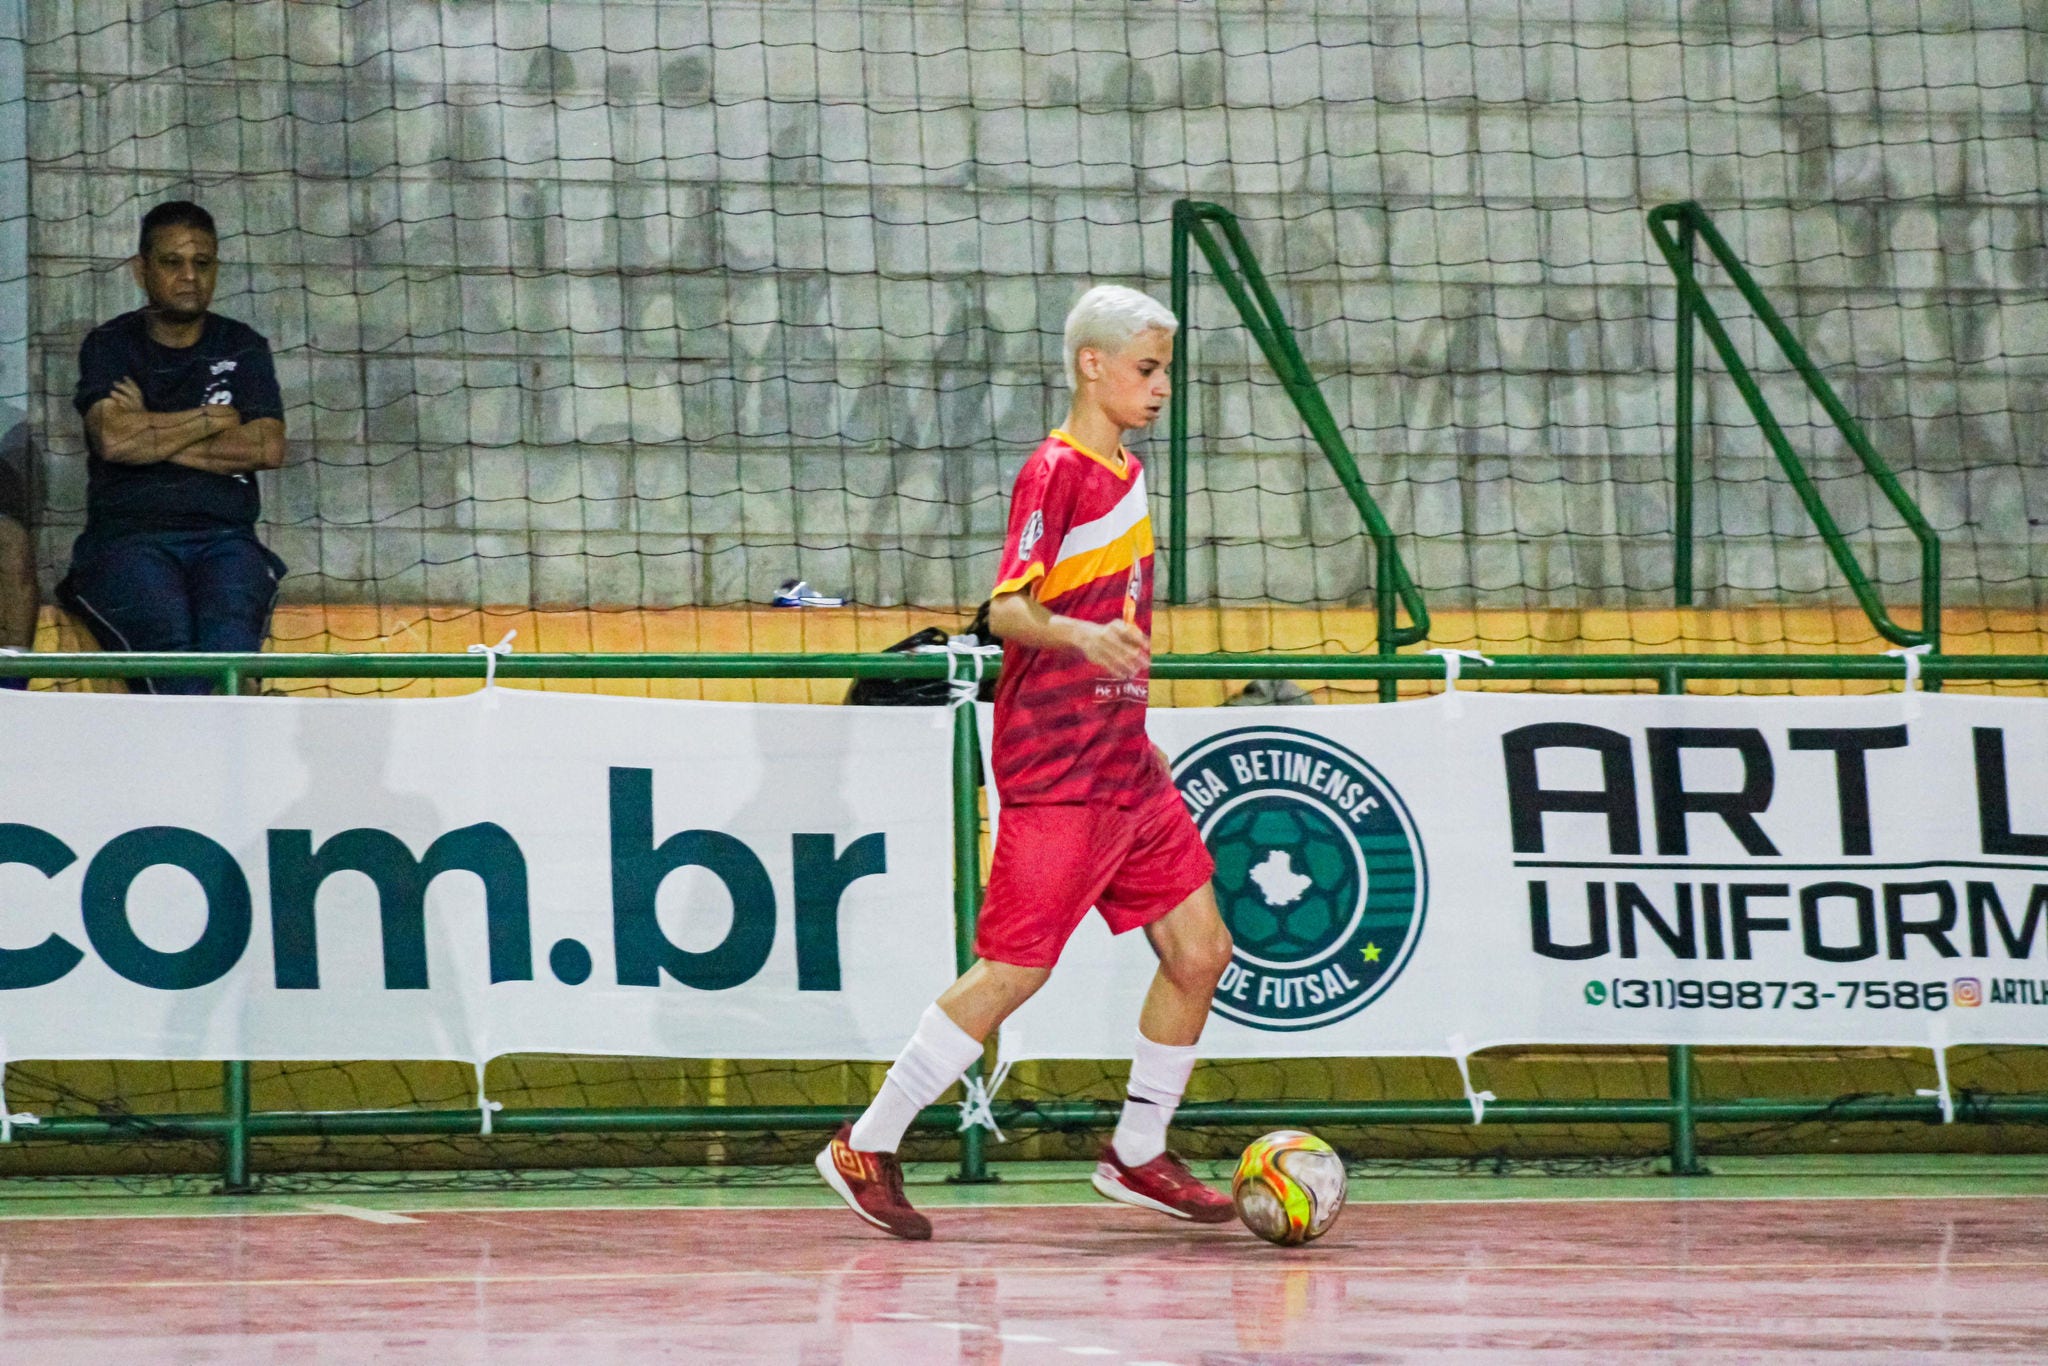
[[[1872,449],[1870,438],[1864,436],[1862,424],[1835,395],[1833,385],[1821,375],[1821,369],[1800,346],[1800,340],[1792,336],[1784,317],[1772,307],[1769,299],[1757,287],[1755,276],[1743,266],[1743,262],[1729,248],[1726,238],[1714,227],[1714,221],[1696,203],[1661,205],[1649,215],[1651,238],[1657,242],[1657,250],[1663,252],[1665,262],[1671,266],[1671,274],[1677,276],[1677,446],[1675,446],[1675,508],[1673,508],[1673,530],[1675,530],[1675,555],[1673,555],[1673,582],[1677,606],[1692,606],[1692,545],[1694,545],[1694,426],[1696,426],[1696,365],[1694,365],[1694,328],[1706,332],[1706,340],[1714,346],[1720,362],[1729,369],[1729,379],[1735,381],[1735,391],[1741,393],[1743,403],[1749,414],[1757,420],[1763,430],[1763,440],[1769,444],[1772,453],[1778,457],[1778,465],[1786,471],[1792,481],[1792,489],[1798,494],[1800,506],[1806,508],[1806,516],[1821,530],[1821,539],[1827,543],[1829,555],[1835,565],[1849,580],[1849,592],[1855,594],[1858,606],[1870,618],[1870,625],[1888,639],[1892,645],[1931,645],[1942,647],[1942,539],[1935,535],[1933,526],[1921,514],[1919,506],[1898,483],[1892,469],[1878,457]],[[1675,236],[1673,236],[1675,231]],[[1772,414],[1769,403],[1763,397],[1763,389],[1757,385],[1755,375],[1743,362],[1741,352],[1735,350],[1735,342],[1729,338],[1726,326],[1722,326],[1720,315],[1714,311],[1712,301],[1700,287],[1700,279],[1694,272],[1694,252],[1696,246],[1704,244],[1714,256],[1720,268],[1729,274],[1729,283],[1735,285],[1737,293],[1769,332],[1772,340],[1798,371],[1800,379],[1806,381],[1808,393],[1821,403],[1829,420],[1841,432],[1849,451],[1864,463],[1864,471],[1876,481],[1878,489],[1890,502],[1892,510],[1911,528],[1913,539],[1919,541],[1921,551],[1921,625],[1919,631],[1898,625],[1892,621],[1890,612],[1884,608],[1878,596],[1876,584],[1864,573],[1864,567],[1855,561],[1855,551],[1849,549],[1849,541],[1841,535],[1835,516],[1827,510],[1821,500],[1821,489],[1812,481],[1812,473],[1806,463],[1792,449],[1786,438],[1784,426],[1780,426],[1776,414]]]

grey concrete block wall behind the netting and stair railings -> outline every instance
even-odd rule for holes
[[[2048,569],[2040,0],[76,0],[31,6],[27,92],[51,569],[78,340],[178,195],[279,354],[264,535],[305,600],[971,602],[1067,303],[1163,297],[1184,195],[1245,221],[1438,602],[1667,600],[1673,199],[1905,471],[1952,602]],[[1714,297],[1911,600],[1896,516]],[[1208,283],[1194,324],[1196,594],[1368,596]],[[1726,379],[1702,418],[1708,600],[1839,598]]]

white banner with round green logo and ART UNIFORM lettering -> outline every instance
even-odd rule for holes
[[[2048,702],[1155,711],[1237,942],[1204,1057],[2048,1042]],[[1128,1057],[1090,915],[1006,1059]]]

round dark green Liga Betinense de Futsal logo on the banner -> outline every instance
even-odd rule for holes
[[[1362,758],[1309,731],[1212,735],[1174,784],[1217,860],[1235,950],[1214,1010],[1309,1030],[1370,1006],[1407,967],[1430,897],[1401,797]]]

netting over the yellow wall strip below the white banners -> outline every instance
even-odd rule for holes
[[[1931,1057],[1909,1049],[1702,1049],[1698,1098],[1778,1098],[1810,1106],[1800,1118],[1704,1124],[1700,1151],[1776,1153],[2038,1153],[2042,1126],[1987,1122],[1978,1102],[2048,1092],[2042,1049],[1954,1049],[1948,1079],[1968,1122],[1866,1120],[1849,1110],[1868,1098],[1913,1096],[1935,1083]],[[1638,1100],[1667,1094],[1661,1051],[1642,1049],[1495,1049],[1473,1057],[1473,1085],[1503,1100]],[[485,1094],[504,1106],[530,1108],[674,1108],[674,1106],[846,1106],[858,1110],[881,1083],[881,1063],[684,1063],[672,1059],[510,1057],[489,1065]],[[1106,1124],[1049,1118],[1042,1106],[1075,1100],[1120,1102],[1124,1065],[1085,1061],[1028,1063],[999,1094],[1004,1141],[995,1161],[1092,1159]],[[6,1096],[16,1112],[39,1118],[117,1120],[121,1137],[94,1141],[35,1139],[0,1147],[0,1176],[63,1180],[133,1178],[158,1188],[184,1178],[193,1188],[219,1184],[217,1141],[180,1126],[174,1116],[213,1114],[221,1106],[215,1063],[16,1063]],[[1460,1104],[1464,1090],[1450,1059],[1294,1059],[1204,1063],[1188,1102],[1286,1100],[1436,1100]],[[678,1182],[758,1184],[786,1180],[821,1147],[829,1122],[784,1122],[766,1130],[545,1133],[481,1135],[475,1075],[459,1063],[256,1063],[252,1104],[276,1112],[383,1110],[408,1116],[465,1116],[436,1135],[338,1135],[256,1139],[252,1178],[266,1190],[444,1190],[449,1186],[662,1186]],[[1231,1159],[1268,1124],[1176,1130],[1188,1157]],[[1518,1124],[1319,1124],[1360,1171],[1454,1169],[1491,1173],[1591,1173],[1657,1169],[1669,1151],[1661,1124],[1542,1122]],[[956,1161],[958,1141],[915,1130],[911,1161]]]

